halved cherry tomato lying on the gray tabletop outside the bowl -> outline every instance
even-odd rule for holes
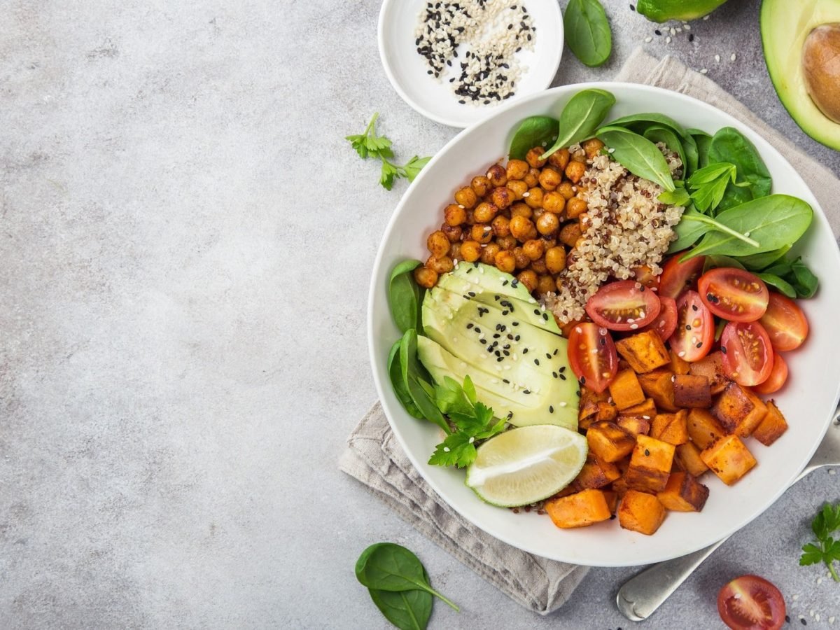
[[[742,575],[717,594],[717,612],[732,630],[779,630],[785,623],[785,598],[758,575]]]

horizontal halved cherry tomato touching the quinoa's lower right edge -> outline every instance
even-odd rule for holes
[[[659,298],[641,282],[620,280],[601,286],[586,302],[592,321],[610,330],[636,330],[659,315]]]

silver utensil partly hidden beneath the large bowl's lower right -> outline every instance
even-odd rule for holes
[[[796,477],[794,483],[818,468],[837,465],[840,465],[840,407],[834,412],[832,423],[828,427],[826,437],[822,439],[822,444],[816,449],[811,461]],[[647,619],[664,604],[671,593],[685,582],[703,560],[727,542],[728,538],[723,538],[711,547],[693,554],[654,564],[634,575],[618,590],[616,596],[618,610],[632,622]]]

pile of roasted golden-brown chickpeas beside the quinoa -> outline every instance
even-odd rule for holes
[[[534,147],[525,160],[508,160],[507,168],[494,164],[486,175],[473,177],[444,209],[440,229],[429,234],[431,255],[414,270],[417,284],[432,288],[455,260],[480,260],[515,274],[532,293],[558,290],[567,250],[583,233],[587,205],[577,184],[587,158],[603,146],[589,139],[575,154],[563,149],[547,160],[541,158],[543,147]]]

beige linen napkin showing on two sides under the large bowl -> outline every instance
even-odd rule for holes
[[[723,92],[680,61],[656,60],[636,50],[616,77],[683,92],[731,113],[768,139],[805,178],[834,233],[840,228],[840,181]],[[397,514],[507,596],[546,615],[563,606],[588,567],[526,554],[476,528],[428,487],[397,443],[377,402],[350,433],[339,468],[360,480]]]

